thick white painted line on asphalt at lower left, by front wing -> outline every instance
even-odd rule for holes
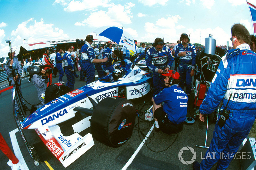
[[[16,129],[12,130],[11,132],[9,132],[10,137],[11,137],[11,142],[12,142],[12,148],[13,148],[15,156],[19,159],[19,162],[21,163],[20,170],[29,170],[28,166],[22,156],[22,153],[20,152],[20,147],[19,147],[16,135],[15,135],[15,133],[18,131],[19,131],[18,128],[16,128]]]

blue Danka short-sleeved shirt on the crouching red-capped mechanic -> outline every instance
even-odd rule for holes
[[[175,125],[184,122],[187,117],[188,96],[178,86],[164,88],[161,92],[154,96],[157,105],[164,102],[163,110],[167,114],[169,121]]]

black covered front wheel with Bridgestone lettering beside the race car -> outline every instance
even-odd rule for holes
[[[135,106],[131,101],[107,97],[93,111],[92,137],[111,147],[122,146],[132,136],[135,117]]]

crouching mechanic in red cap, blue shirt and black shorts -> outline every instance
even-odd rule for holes
[[[174,134],[183,129],[183,122],[187,117],[188,95],[179,86],[180,75],[177,71],[169,70],[162,75],[165,76],[164,84],[168,88],[152,98],[155,131]]]

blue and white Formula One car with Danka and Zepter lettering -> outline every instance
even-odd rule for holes
[[[22,129],[35,129],[52,154],[67,167],[94,145],[90,133],[84,137],[79,134],[90,127],[91,116],[72,125],[74,134],[64,136],[61,133],[58,124],[74,118],[77,112],[74,108],[92,109],[94,102],[99,103],[102,99],[112,96],[122,96],[127,99],[140,98],[149,93],[151,88],[152,73],[141,70],[129,60],[123,60],[121,65],[108,76],[62,95],[37,109],[22,121],[16,122],[30,155],[35,159],[35,164],[38,164],[38,159],[33,156],[31,146],[27,143]],[[17,118],[15,109],[14,112],[14,117]]]

